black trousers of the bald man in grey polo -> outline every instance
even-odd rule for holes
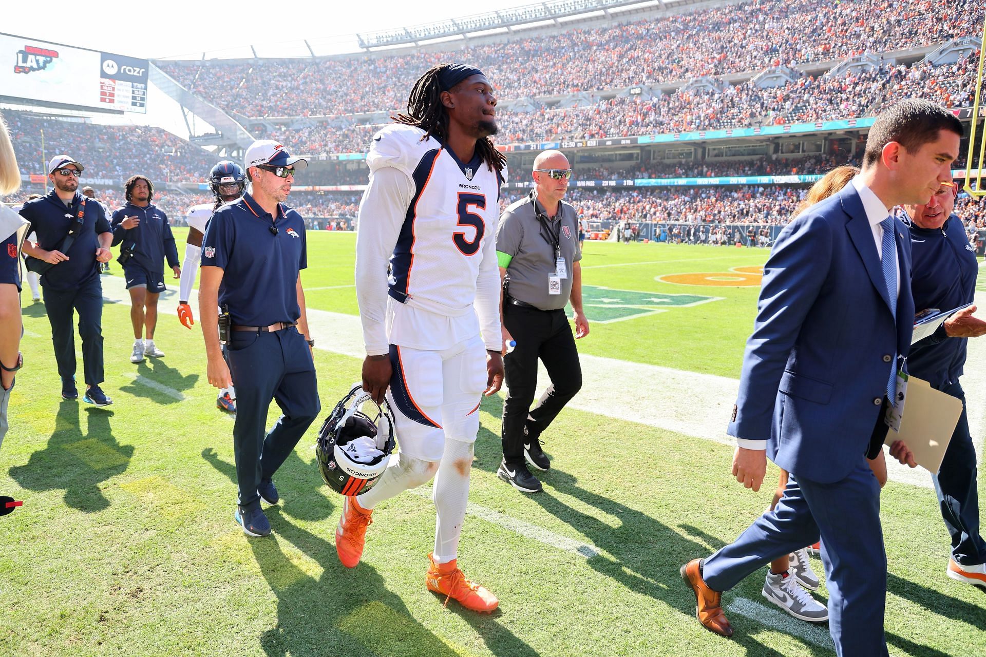
[[[582,366],[564,310],[538,310],[504,302],[503,323],[517,342],[504,360],[507,401],[503,405],[503,455],[524,461],[524,443],[536,440],[582,387]],[[537,387],[537,360],[551,385],[530,408]],[[528,417],[529,416],[529,417]]]

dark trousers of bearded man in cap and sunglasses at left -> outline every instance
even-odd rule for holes
[[[75,376],[75,331],[72,311],[79,313],[82,336],[82,367],[88,385],[103,383],[103,284],[94,276],[75,290],[59,292],[44,288],[44,310],[51,323],[58,375]]]

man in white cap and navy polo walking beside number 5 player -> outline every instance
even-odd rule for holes
[[[282,204],[295,170],[307,165],[276,142],[253,142],[246,149],[251,191],[216,211],[202,240],[198,309],[209,383],[228,388],[237,381],[234,518],[247,536],[270,534],[260,499],[277,503],[272,477],[320,409],[301,279],[305,220]],[[229,312],[229,365],[220,350],[217,306]],[[271,400],[282,415],[264,436]]]

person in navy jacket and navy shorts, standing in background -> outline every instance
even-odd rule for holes
[[[133,352],[130,362],[140,362],[144,356],[159,359],[165,355],[154,344],[154,329],[158,325],[158,296],[165,288],[161,263],[181,276],[178,252],[168,215],[151,201],[154,183],[146,176],[133,175],[123,186],[127,203],[113,213],[113,246],[120,246],[120,261],[127,292],[130,293],[130,323],[133,324]],[[147,337],[146,340],[141,335]]]

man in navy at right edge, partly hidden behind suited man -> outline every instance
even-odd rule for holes
[[[918,311],[954,308],[971,303],[976,294],[976,254],[962,221],[951,214],[957,191],[958,185],[945,185],[926,205],[904,206],[914,263],[911,292]],[[986,544],[979,535],[976,452],[969,435],[965,393],[958,381],[965,363],[966,338],[986,334],[986,322],[972,316],[975,309],[970,306],[955,313],[934,335],[911,347],[907,369],[933,388],[962,400],[962,414],[932,482],[951,535],[948,575],[986,587]]]

